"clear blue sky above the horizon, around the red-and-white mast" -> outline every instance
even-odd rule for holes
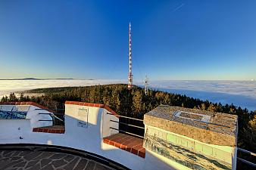
[[[0,79],[256,79],[256,1],[0,1]]]

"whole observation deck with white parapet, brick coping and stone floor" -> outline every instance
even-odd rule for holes
[[[131,125],[145,128],[140,136],[120,129],[126,116],[104,104],[66,101],[63,125],[55,110],[33,102],[1,102],[0,110],[26,113],[0,119],[7,169],[236,169],[237,116],[161,106],[135,119],[145,125]]]

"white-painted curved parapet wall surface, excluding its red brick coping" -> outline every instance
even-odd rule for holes
[[[89,125],[87,128],[77,125],[77,121],[85,121],[84,117],[79,115],[79,109],[89,110]],[[4,124],[0,122],[0,125],[2,125],[0,126],[2,128],[2,131],[0,131],[0,144],[52,144],[95,153],[131,169],[174,169],[172,166],[167,165],[159,156],[148,151],[146,151],[144,159],[133,153],[104,144],[104,137],[117,133],[117,131],[110,127],[118,128],[117,123],[110,121],[111,119],[118,121],[118,118],[107,113],[108,110],[103,108],[67,104],[64,134],[33,132],[29,119],[23,119],[23,122],[19,120],[20,123],[17,124],[14,120],[6,120]],[[16,124],[15,127],[10,128],[14,124]],[[23,127],[23,139],[19,139],[20,133],[17,132],[19,125]],[[5,138],[6,136],[8,136],[7,139]]]

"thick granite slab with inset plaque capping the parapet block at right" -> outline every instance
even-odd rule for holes
[[[144,124],[223,146],[236,146],[236,115],[184,107],[160,106],[146,113]]]

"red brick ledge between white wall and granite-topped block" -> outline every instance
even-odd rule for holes
[[[119,133],[103,138],[103,142],[145,158],[145,148],[143,147],[143,139],[141,138]]]

